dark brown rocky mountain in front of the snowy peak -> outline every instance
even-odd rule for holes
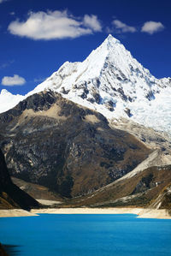
[[[133,135],[109,128],[101,114],[56,92],[30,96],[0,121],[10,173],[67,197],[115,181],[150,152]]]

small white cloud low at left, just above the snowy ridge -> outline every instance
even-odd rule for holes
[[[1,83],[3,86],[22,86],[26,80],[18,74],[14,74],[14,76],[4,76]]]

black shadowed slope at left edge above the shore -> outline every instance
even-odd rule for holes
[[[18,188],[10,179],[3,152],[0,150],[0,209],[38,207],[38,202]]]

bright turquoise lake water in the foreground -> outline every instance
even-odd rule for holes
[[[133,214],[0,218],[10,255],[171,255],[171,220]]]

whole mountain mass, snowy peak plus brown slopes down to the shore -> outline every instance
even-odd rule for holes
[[[84,62],[64,63],[27,95],[2,90],[9,174],[64,207],[170,209],[170,95],[171,78],[154,77],[109,35]]]

